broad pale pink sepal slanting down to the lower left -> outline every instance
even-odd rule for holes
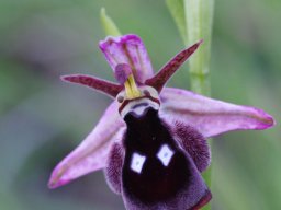
[[[111,144],[119,141],[125,124],[114,101],[88,137],[53,171],[48,186],[56,188],[106,165]]]

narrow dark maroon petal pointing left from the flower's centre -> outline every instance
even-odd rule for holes
[[[122,91],[123,86],[99,79],[91,75],[83,75],[83,74],[70,74],[70,75],[63,75],[61,80],[65,82],[77,83],[81,84],[95,91],[100,91],[105,93],[112,97],[116,97],[116,95]]]

